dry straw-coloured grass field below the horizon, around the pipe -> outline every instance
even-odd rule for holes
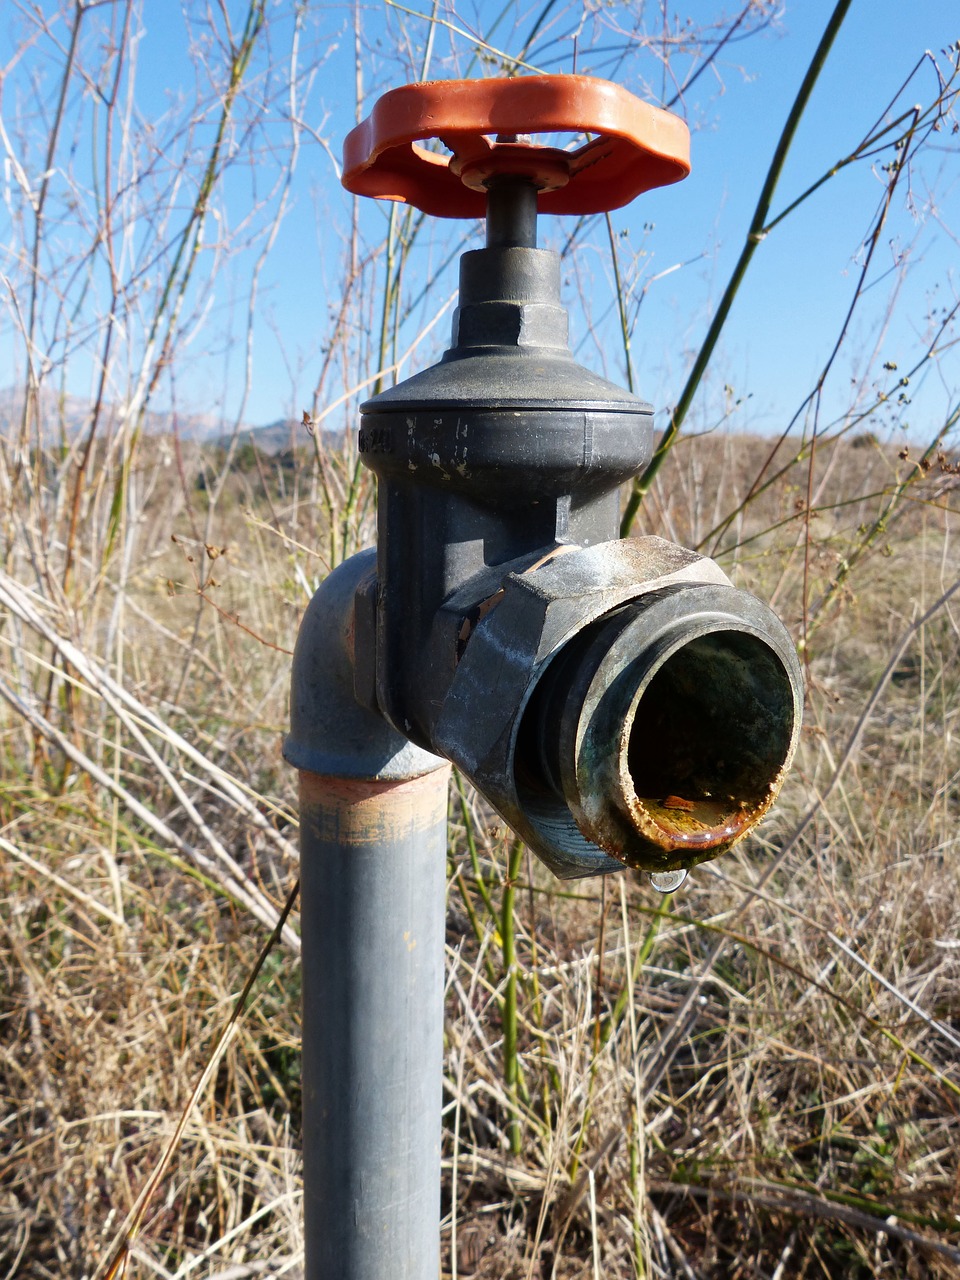
[[[77,453],[19,460],[0,575],[10,1280],[102,1275],[294,883],[288,652],[324,572],[317,485],[355,463],[349,440],[306,444],[236,466],[143,440],[137,517],[97,572],[105,442],[69,594],[51,535]],[[637,525],[716,547],[799,639],[806,596],[803,746],[759,835],[673,897],[631,873],[561,886],[452,791],[448,1275],[957,1272],[960,477],[836,439],[808,518],[809,445],[771,449],[684,440]],[[718,532],[764,465],[773,483]],[[358,483],[348,547],[370,534]],[[129,1276],[300,1274],[297,928],[189,1112]]]

